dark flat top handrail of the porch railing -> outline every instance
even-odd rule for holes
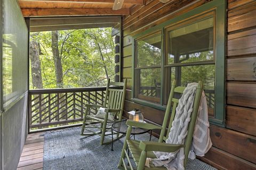
[[[103,91],[106,87],[84,87],[84,88],[58,88],[58,89],[32,89],[29,90],[29,94],[53,94],[60,92],[82,92],[82,91]]]

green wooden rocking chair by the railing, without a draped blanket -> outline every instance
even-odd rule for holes
[[[112,123],[122,120],[125,90],[126,79],[124,82],[110,82],[110,79],[108,79],[103,106],[92,104],[85,105],[86,109],[81,135],[100,135],[100,145],[107,145],[112,142],[112,140],[105,141],[105,136],[111,135]],[[105,108],[105,112],[108,114],[105,114],[102,118],[95,115],[89,115],[90,109],[94,108],[98,110],[100,107]],[[114,117],[113,120],[109,120],[109,114],[112,114]],[[93,129],[98,129],[98,131],[94,131]],[[114,135],[116,135],[116,138],[113,141],[122,137],[121,135],[119,136],[119,133],[114,133]]]

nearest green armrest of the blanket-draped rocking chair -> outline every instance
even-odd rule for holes
[[[160,143],[150,141],[140,141],[140,149],[144,151],[161,151],[161,152],[175,152],[185,145],[175,145],[171,143]]]

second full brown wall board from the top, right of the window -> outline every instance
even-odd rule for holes
[[[227,55],[256,54],[256,29],[246,30],[228,35]]]

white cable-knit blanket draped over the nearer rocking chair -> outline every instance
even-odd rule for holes
[[[184,144],[190,116],[193,112],[193,104],[196,93],[197,83],[190,83],[183,92],[179,100],[179,105],[176,108],[172,128],[166,143]],[[202,94],[201,102],[198,109],[197,121],[193,134],[193,142],[189,152],[189,158],[195,159],[195,155],[204,156],[204,154],[211,148],[212,142],[209,134],[209,121],[207,103],[204,92]],[[184,148],[179,149],[177,152],[154,152],[157,156],[156,159],[147,158],[146,166],[150,166],[153,162],[155,166],[165,166],[169,170],[185,169],[184,167]]]

